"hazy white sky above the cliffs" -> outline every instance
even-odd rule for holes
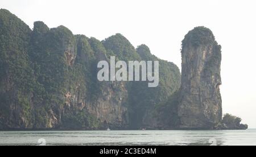
[[[0,0],[31,28],[36,20],[103,40],[119,32],[181,68],[181,40],[210,28],[222,46],[222,106],[256,128],[255,0]]]

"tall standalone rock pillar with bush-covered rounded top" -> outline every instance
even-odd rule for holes
[[[178,115],[182,129],[213,129],[221,122],[221,46],[212,32],[196,27],[183,40]]]

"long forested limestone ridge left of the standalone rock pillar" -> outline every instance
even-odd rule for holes
[[[110,56],[159,60],[158,88],[99,82],[97,63]],[[135,49],[121,34],[100,42],[43,22],[30,30],[7,10],[0,10],[0,74],[0,129],[158,128],[155,108],[180,88],[175,64],[146,46]]]

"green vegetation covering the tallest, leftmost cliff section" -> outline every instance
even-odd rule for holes
[[[12,116],[11,108],[16,108],[17,117],[22,115],[26,117],[26,122],[30,122],[29,97],[35,83],[34,71],[27,54],[30,31],[15,15],[4,9],[0,10],[0,97],[3,98],[0,101],[0,118]],[[15,118],[5,122],[14,123]],[[20,122],[19,125],[26,126],[26,122]]]

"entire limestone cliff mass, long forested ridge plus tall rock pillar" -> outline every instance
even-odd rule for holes
[[[159,86],[147,81],[97,80],[97,63],[159,61]],[[182,43],[182,75],[142,44],[121,34],[105,40],[35,22],[31,30],[0,10],[0,130],[246,129],[222,121],[221,46],[196,27]]]

